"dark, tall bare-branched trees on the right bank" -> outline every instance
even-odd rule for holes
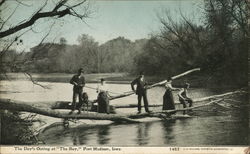
[[[135,59],[137,69],[151,75],[172,76],[201,67],[207,80],[246,85],[247,2],[206,0],[204,7],[203,25],[195,24],[182,13],[179,22],[168,11],[159,17],[160,34],[152,36],[144,52]]]

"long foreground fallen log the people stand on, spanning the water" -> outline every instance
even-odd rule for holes
[[[218,103],[223,99],[218,99],[211,101],[209,103],[198,105],[194,107],[184,108],[184,109],[176,109],[176,110],[164,110],[164,111],[156,111],[152,113],[129,113],[129,114],[105,114],[105,113],[93,113],[93,112],[83,112],[81,114],[68,114],[68,111],[56,111],[49,108],[39,107],[30,105],[27,102],[22,101],[14,101],[10,99],[0,99],[0,108],[6,110],[15,110],[15,111],[23,111],[23,112],[31,112],[37,113],[45,116],[55,117],[55,118],[62,118],[62,119],[92,119],[92,120],[111,120],[114,122],[129,122],[129,123],[138,123],[138,118],[145,118],[145,117],[157,117],[157,118],[164,118],[164,119],[172,119],[171,117],[166,116],[165,114],[170,115],[171,113],[178,112],[178,111],[185,111],[191,110],[203,106],[207,106],[213,103]]]

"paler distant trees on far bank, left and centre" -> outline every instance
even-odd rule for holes
[[[7,67],[5,69],[22,72],[75,73],[80,67],[83,67],[87,73],[132,72],[135,65],[133,59],[142,52],[147,40],[131,42],[123,37],[118,37],[98,45],[93,37],[82,34],[78,37],[78,45],[68,45],[66,42],[65,38],[61,38],[60,44],[39,44],[31,48],[31,52],[23,53],[22,61],[24,63],[21,68]],[[12,57],[15,56],[21,58],[18,53],[12,51],[8,52],[3,59],[11,62]]]

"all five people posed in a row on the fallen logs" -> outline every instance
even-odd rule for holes
[[[78,110],[78,113],[81,113],[83,104],[87,105],[88,109],[88,95],[87,93],[83,92],[83,87],[85,86],[85,78],[84,78],[84,70],[80,68],[78,70],[78,73],[74,75],[70,83],[73,85],[73,102],[72,102],[72,108],[71,113],[74,112],[74,110]],[[136,89],[135,86],[136,85]],[[172,91],[179,90],[179,101],[181,104],[183,104],[183,107],[186,108],[187,104],[189,104],[189,107],[192,106],[193,101],[190,97],[188,97],[188,88],[189,84],[186,83],[184,88],[174,88],[172,86],[172,78],[168,78],[167,82],[165,84],[165,94],[163,96],[163,107],[162,110],[174,110],[175,109],[175,103],[174,103],[174,97]],[[143,99],[144,102],[144,108],[145,111],[148,113],[151,113],[152,111],[149,110],[148,107],[148,99],[147,99],[147,89],[148,89],[148,83],[145,81],[144,73],[140,72],[139,76],[134,79],[131,82],[131,88],[136,93],[137,99],[138,99],[138,114],[141,113],[141,100]],[[107,88],[107,85],[105,84],[105,80],[101,79],[100,84],[96,88],[96,92],[98,93],[97,96],[97,112],[98,113],[110,113],[110,107],[109,107],[109,91]],[[79,99],[79,103],[76,103],[76,99]],[[185,114],[185,111],[183,112]]]

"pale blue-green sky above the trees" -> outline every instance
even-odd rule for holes
[[[17,7],[15,14],[8,20],[8,26],[31,17],[44,4],[43,0],[22,0],[22,2],[27,6],[19,4],[17,7],[15,1],[10,1],[6,6],[8,11],[5,11],[5,17],[11,13],[10,10]],[[32,31],[22,36],[23,44],[18,45],[17,49],[29,51],[48,32],[49,36],[45,42],[59,42],[61,37],[65,37],[68,44],[77,44],[77,38],[81,34],[92,36],[99,44],[119,36],[132,41],[149,38],[150,34],[159,32],[161,24],[157,14],[164,17],[164,10],[169,10],[176,21],[180,18],[181,10],[185,16],[200,23],[202,2],[202,0],[92,0],[76,10],[81,12],[88,4],[91,10],[89,18],[84,21],[71,16],[59,20],[41,19],[35,23]],[[50,10],[54,4],[55,0],[49,1],[44,11]]]

